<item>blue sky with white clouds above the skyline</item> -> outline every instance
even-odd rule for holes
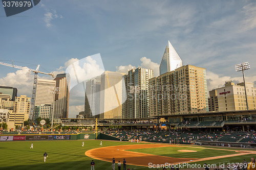
[[[72,58],[97,53],[106,70],[143,66],[157,72],[169,40],[184,65],[206,68],[209,90],[242,81],[234,65],[246,61],[251,65],[246,79],[256,81],[255,1],[41,0],[10,17],[0,7],[0,21],[0,60],[30,68],[40,64],[44,72],[57,73]],[[31,93],[31,74],[0,69],[0,85]],[[14,81],[18,78],[24,83]]]

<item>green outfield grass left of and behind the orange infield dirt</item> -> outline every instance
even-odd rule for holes
[[[34,148],[30,149],[32,142]],[[99,146],[100,140],[84,140],[82,147],[82,140],[0,142],[0,169],[91,169],[92,158],[84,155],[86,151],[113,145],[138,144],[115,141],[102,143],[103,146]],[[43,156],[45,152],[49,155],[46,163]],[[110,162],[95,160],[95,164],[95,169],[111,168]],[[126,167],[138,166],[128,164]]]

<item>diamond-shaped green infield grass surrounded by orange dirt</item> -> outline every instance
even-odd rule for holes
[[[179,152],[179,150],[192,150],[197,152]],[[163,147],[163,148],[146,148],[127,150],[144,154],[160,155],[173,158],[207,158],[222,155],[237,154],[234,151],[210,150],[204,148],[188,148],[188,147]]]

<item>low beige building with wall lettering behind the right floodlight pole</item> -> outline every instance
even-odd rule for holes
[[[256,109],[256,88],[253,83],[245,83],[249,110]],[[217,88],[219,111],[247,110],[244,83],[231,81]]]

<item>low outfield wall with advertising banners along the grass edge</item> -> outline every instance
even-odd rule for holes
[[[33,135],[0,135],[0,141],[32,141],[32,140],[87,140],[87,139],[103,139],[103,140],[120,140],[113,136],[102,133],[78,133],[78,134],[33,134]]]

